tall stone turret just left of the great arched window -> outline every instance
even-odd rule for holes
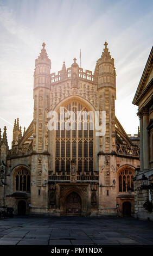
[[[35,60],[33,153],[31,156],[31,212],[48,209],[48,131],[47,112],[50,97],[51,62],[42,44],[40,56]],[[39,195],[39,197],[37,197]]]

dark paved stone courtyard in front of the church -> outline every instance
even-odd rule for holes
[[[117,217],[0,220],[0,245],[153,245],[153,222]]]

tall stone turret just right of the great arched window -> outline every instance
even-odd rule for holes
[[[106,132],[105,136],[100,137],[99,166],[103,166],[103,171],[99,174],[99,180],[103,184],[103,192],[99,197],[99,207],[103,208],[109,204],[115,208],[116,202],[109,202],[108,198],[104,198],[103,194],[109,194],[110,190],[115,191],[115,187],[111,188],[112,181],[115,178],[116,170],[116,138],[115,138],[115,100],[116,100],[116,73],[114,70],[114,59],[111,57],[109,49],[105,42],[104,51],[98,59],[98,95],[99,95],[99,111],[106,114]],[[112,171],[113,170],[113,171]],[[107,202],[108,199],[108,202]]]

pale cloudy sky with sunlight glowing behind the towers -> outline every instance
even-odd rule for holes
[[[108,48],[117,73],[116,116],[127,134],[139,126],[132,105],[152,47],[152,0],[0,0],[0,127],[11,148],[14,120],[26,129],[33,120],[33,74],[42,43],[52,72],[74,57],[94,72]]]

